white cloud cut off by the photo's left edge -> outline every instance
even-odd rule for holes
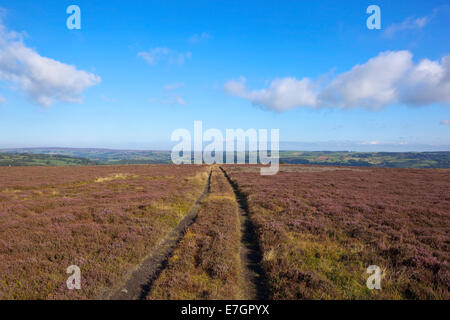
[[[0,21],[0,80],[22,90],[44,107],[55,101],[82,102],[83,91],[100,77],[28,48],[21,35],[8,31]]]

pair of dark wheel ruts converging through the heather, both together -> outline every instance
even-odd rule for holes
[[[248,300],[262,300],[268,298],[268,287],[264,271],[261,266],[262,254],[255,228],[249,217],[249,209],[246,196],[240,191],[238,185],[229,177],[223,167],[219,172],[225,176],[230,184],[236,200],[239,215],[240,229],[240,264],[242,281],[242,298]],[[178,226],[156,247],[153,253],[146,258],[135,270],[125,285],[117,289],[109,298],[112,300],[142,300],[146,299],[152,289],[152,285],[166,268],[169,258],[172,256],[178,243],[183,239],[187,229],[197,218],[202,201],[210,193],[212,169],[209,172],[205,190],[190,208],[188,214],[181,220]]]

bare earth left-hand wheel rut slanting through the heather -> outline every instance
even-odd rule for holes
[[[142,262],[139,268],[132,273],[125,285],[109,297],[110,300],[144,300],[147,297],[153,282],[166,267],[167,261],[178,242],[183,238],[187,228],[195,222],[201,202],[210,191],[211,172],[209,172],[205,190],[189,209],[187,215],[164,238],[153,253]]]

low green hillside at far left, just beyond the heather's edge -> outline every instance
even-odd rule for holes
[[[87,166],[98,162],[65,155],[0,153],[0,166]]]

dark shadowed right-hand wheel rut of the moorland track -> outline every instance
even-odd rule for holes
[[[241,229],[241,265],[243,270],[244,294],[248,300],[265,300],[269,298],[267,279],[261,266],[262,253],[259,247],[255,227],[249,217],[247,197],[239,186],[220,167],[228,183],[233,188],[238,203],[239,221]]]

